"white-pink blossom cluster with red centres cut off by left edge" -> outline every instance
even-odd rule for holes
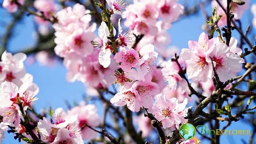
[[[33,83],[33,76],[26,73],[23,61],[26,54],[4,52],[0,61],[0,115],[3,117],[0,122],[1,137],[4,138],[4,131],[8,126],[13,126],[17,133],[24,132],[24,113],[32,109],[34,101],[38,98],[39,89]]]

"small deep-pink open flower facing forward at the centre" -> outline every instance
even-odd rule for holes
[[[139,54],[134,49],[129,49],[116,53],[114,59],[117,63],[121,63],[118,67],[122,68],[124,71],[129,71],[129,69],[137,65]]]

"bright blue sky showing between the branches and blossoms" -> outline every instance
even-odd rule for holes
[[[255,3],[255,0],[251,0],[251,3]],[[206,7],[208,14],[211,12],[211,7]],[[4,21],[10,22],[10,14],[7,11],[0,9],[1,17],[4,17]],[[244,17],[242,18],[243,30],[245,31],[246,26],[251,23],[252,14],[251,11],[246,11]],[[177,22],[172,24],[172,28],[169,30],[171,35],[171,45],[177,46],[178,48],[187,48],[187,43],[189,40],[197,41],[200,33],[203,32],[201,29],[202,24],[205,22],[204,15],[200,11],[198,14],[182,18]],[[25,16],[24,19],[15,27],[14,37],[11,38],[8,44],[8,50],[10,52],[16,52],[24,48],[29,48],[33,46],[35,38],[33,37],[33,18],[32,16]],[[0,34],[4,33],[4,27],[0,27]],[[253,43],[255,28],[252,27],[252,33],[250,40]],[[234,31],[234,37],[237,37],[237,32]],[[254,60],[255,61],[255,60]],[[255,61],[256,62],[256,61]],[[54,65],[54,67],[43,67],[37,62],[33,65],[26,65],[26,70],[34,76],[34,83],[39,86],[39,98],[35,104],[35,109],[39,111],[40,109],[49,109],[52,106],[53,109],[57,107],[66,107],[65,101],[70,103],[82,100],[82,96],[85,93],[86,88],[80,82],[68,83],[65,80],[65,75],[67,70],[63,67],[62,63],[59,62]],[[193,105],[193,103],[191,103]],[[100,107],[99,107],[100,109]],[[100,113],[102,110],[99,110]],[[221,122],[221,126],[226,125],[226,122]],[[245,122],[238,121],[234,122],[228,129],[250,129],[251,126]],[[199,137],[199,136],[197,136]],[[221,136],[221,142],[223,144],[241,144],[241,139],[248,141],[249,136]],[[14,140],[12,134],[6,134],[6,139],[3,144],[18,144],[19,142]],[[202,144],[207,144],[203,142]]]

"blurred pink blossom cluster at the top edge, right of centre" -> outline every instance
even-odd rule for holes
[[[136,0],[123,12],[126,18],[124,25],[132,33],[144,35],[136,49],[147,44],[153,44],[157,52],[166,56],[165,47],[170,44],[170,35],[167,30],[171,23],[183,13],[184,7],[177,0]]]

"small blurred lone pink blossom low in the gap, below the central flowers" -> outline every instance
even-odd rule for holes
[[[138,125],[138,131],[142,131],[142,137],[147,137],[153,131],[151,120],[145,117],[144,114],[140,114],[135,117],[135,122]]]

